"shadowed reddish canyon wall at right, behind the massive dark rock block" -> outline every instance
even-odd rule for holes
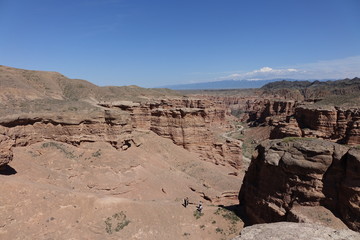
[[[242,120],[270,125],[270,138],[310,137],[360,144],[360,109],[300,104],[292,100],[249,100]]]

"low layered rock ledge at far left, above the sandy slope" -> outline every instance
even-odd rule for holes
[[[132,135],[129,114],[106,110],[77,114],[27,114],[0,119],[0,166],[12,160],[12,149],[44,140],[72,145],[108,142],[119,150],[140,144]]]

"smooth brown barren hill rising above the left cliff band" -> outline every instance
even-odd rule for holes
[[[32,71],[0,65],[0,113],[89,109],[101,101],[179,96],[169,89],[138,86],[99,87],[86,80],[70,79],[58,72]]]

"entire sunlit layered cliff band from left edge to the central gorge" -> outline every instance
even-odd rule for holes
[[[105,141],[125,150],[137,141],[133,134],[136,129],[169,138],[199,153],[203,160],[240,168],[240,143],[224,139],[213,131],[229,130],[228,117],[230,112],[223,103],[197,99],[103,102],[92,112],[3,117],[0,119],[0,166],[12,160],[12,148],[44,140],[73,145]]]

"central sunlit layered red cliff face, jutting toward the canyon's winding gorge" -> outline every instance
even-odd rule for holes
[[[181,98],[141,104],[125,101],[101,103],[101,106],[127,111],[132,128],[151,130],[169,138],[175,144],[199,153],[206,161],[241,167],[240,143],[231,139],[219,141],[212,131],[213,128],[226,131],[229,126],[230,110],[222,102]]]

